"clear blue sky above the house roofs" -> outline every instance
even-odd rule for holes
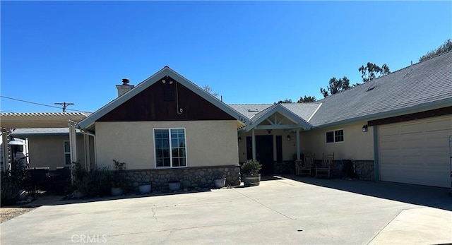
[[[228,104],[323,96],[452,37],[452,1],[1,1],[1,95],[94,112],[169,66]],[[61,112],[1,98],[2,112]],[[70,112],[70,111],[69,111]]]

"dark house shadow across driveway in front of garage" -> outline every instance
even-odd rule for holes
[[[281,177],[304,184],[452,211],[452,197],[449,196],[447,188],[356,179],[316,179],[295,175],[281,175]]]

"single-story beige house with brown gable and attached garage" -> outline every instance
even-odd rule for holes
[[[451,186],[452,52],[312,103],[225,104],[167,66],[117,88],[76,126],[85,154],[126,162],[133,186],[239,184],[239,162],[273,174],[304,153],[352,160],[359,179]]]

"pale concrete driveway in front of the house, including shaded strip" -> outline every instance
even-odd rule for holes
[[[448,189],[271,177],[260,186],[57,202],[0,225],[1,244],[446,244]]]

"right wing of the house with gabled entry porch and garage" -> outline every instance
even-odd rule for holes
[[[239,160],[264,172],[295,152],[334,153],[360,179],[451,187],[452,52],[313,103],[231,107],[251,121],[238,130]]]

